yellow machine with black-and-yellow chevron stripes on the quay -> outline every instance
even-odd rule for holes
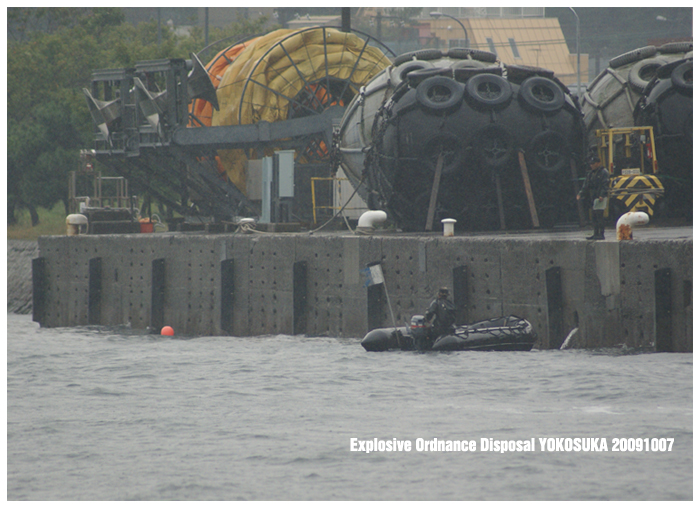
[[[651,218],[664,195],[652,127],[599,129],[596,137],[598,155],[610,172],[606,214],[641,211]]]

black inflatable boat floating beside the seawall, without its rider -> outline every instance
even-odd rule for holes
[[[423,316],[413,316],[410,326],[377,328],[365,335],[361,344],[367,351],[530,351],[535,340],[529,321],[504,316],[458,325],[454,333],[433,341]]]

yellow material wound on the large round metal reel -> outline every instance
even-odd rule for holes
[[[362,86],[391,65],[368,42],[330,27],[276,30],[247,41],[217,76],[220,108],[212,113],[211,125],[277,122],[347,106]],[[316,141],[298,153],[297,162],[327,155],[326,143]],[[245,150],[220,150],[219,157],[231,182],[245,192]]]

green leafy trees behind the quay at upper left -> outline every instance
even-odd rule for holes
[[[92,72],[189,58],[204,48],[204,29],[178,35],[159,30],[156,20],[133,25],[119,8],[8,8],[7,17],[7,222],[26,209],[35,226],[39,207],[62,201],[68,212],[68,173],[78,168],[80,150],[93,146],[82,93]],[[265,21],[214,28],[209,40],[227,39],[223,49],[259,33]]]

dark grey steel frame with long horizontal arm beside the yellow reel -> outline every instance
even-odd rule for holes
[[[323,30],[325,34],[326,28]],[[352,32],[364,38],[365,48],[374,42],[385,54],[395,56],[372,36]],[[282,47],[283,41],[279,43]],[[90,89],[84,92],[95,123],[97,160],[182,215],[193,214],[191,203],[198,209],[194,213],[220,219],[259,215],[258,205],[217,170],[217,150],[301,150],[319,139],[331,146],[334,121],[342,117],[345,108],[321,104],[307,108],[308,116],[280,122],[188,127],[192,117],[189,104],[202,98],[193,97],[188,87],[198,64],[193,54],[191,60],[149,60],[130,68],[95,71]],[[329,82],[327,74],[326,66],[325,80]],[[343,94],[350,88],[347,81]],[[245,86],[249,85],[255,86],[254,81]]]

